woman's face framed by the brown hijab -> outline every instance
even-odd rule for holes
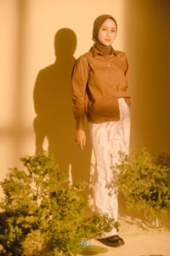
[[[100,26],[98,32],[99,42],[105,46],[109,46],[116,38],[116,24],[114,20],[107,19]]]

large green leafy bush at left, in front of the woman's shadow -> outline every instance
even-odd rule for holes
[[[85,218],[86,184],[65,189],[67,177],[45,152],[20,158],[25,171],[11,169],[1,183],[1,255],[71,255],[79,241],[111,231],[114,221],[94,212]],[[48,254],[50,252],[51,254]]]

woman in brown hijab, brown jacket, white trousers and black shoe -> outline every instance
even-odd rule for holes
[[[85,115],[90,127],[97,172],[95,205],[100,213],[108,213],[117,221],[117,193],[107,184],[111,182],[111,166],[118,163],[118,151],[128,154],[131,97],[127,92],[127,56],[111,46],[116,32],[116,20],[111,15],[94,20],[94,45],[77,59],[71,88],[78,147],[86,143]],[[111,247],[124,244],[115,228],[99,241]]]

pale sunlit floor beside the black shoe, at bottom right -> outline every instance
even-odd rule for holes
[[[126,215],[119,217],[121,227],[119,236],[125,244],[122,247],[107,247],[101,242],[91,240],[91,246],[105,247],[106,253],[97,255],[105,256],[170,256],[170,215],[164,214],[161,229],[151,229],[140,218]],[[92,251],[92,250],[91,250]],[[93,250],[95,252],[95,250]],[[97,252],[97,250],[96,250]],[[80,255],[80,254],[78,254]]]

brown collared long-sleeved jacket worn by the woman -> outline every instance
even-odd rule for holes
[[[77,130],[83,130],[85,115],[91,123],[120,119],[118,98],[124,97],[128,106],[131,100],[127,75],[127,56],[122,51],[113,49],[105,56],[92,47],[77,59],[71,76]]]

